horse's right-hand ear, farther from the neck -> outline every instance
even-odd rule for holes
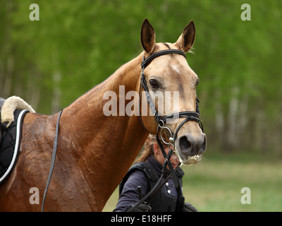
[[[196,28],[193,20],[184,28],[182,34],[178,38],[176,45],[180,47],[183,52],[188,52],[195,41]]]

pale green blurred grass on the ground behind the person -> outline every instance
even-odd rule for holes
[[[207,153],[198,165],[182,167],[185,201],[199,211],[282,211],[282,160],[255,154]],[[251,204],[243,205],[243,187]],[[114,191],[103,211],[118,201]]]

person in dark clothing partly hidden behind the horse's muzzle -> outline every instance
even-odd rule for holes
[[[162,143],[162,145],[166,154],[168,154],[168,145],[165,143]],[[180,167],[176,169],[178,188],[174,185],[173,178],[170,177],[149,204],[141,203],[140,206],[135,206],[141,198],[137,186],[141,186],[142,196],[145,196],[161,177],[164,161],[164,155],[159,148],[156,136],[150,134],[145,142],[145,150],[130,167],[119,185],[119,198],[114,212],[126,212],[128,210],[133,212],[197,212],[197,208],[188,202],[185,203],[182,193],[184,172]],[[173,154],[170,161],[175,169],[179,163],[177,156]],[[169,174],[169,169],[166,167],[166,176]]]

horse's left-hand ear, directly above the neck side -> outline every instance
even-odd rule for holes
[[[154,50],[154,46],[156,44],[155,42],[155,32],[154,28],[152,25],[149,23],[147,19],[144,20],[142,23],[142,28],[141,28],[141,44],[145,52],[148,54],[151,54],[152,51]]]

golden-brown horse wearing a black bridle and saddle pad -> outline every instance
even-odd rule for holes
[[[130,102],[134,106],[138,105],[139,98],[128,100],[122,97],[121,87],[124,93],[140,91],[140,65],[143,59],[166,49],[189,52],[194,41],[195,24],[192,20],[175,43],[156,43],[154,28],[145,19],[140,35],[141,54],[63,109],[59,121],[56,163],[44,210],[103,210],[140,152],[149,132],[157,133],[159,126],[149,108],[147,112],[141,111],[141,115],[122,114],[124,112],[121,109],[117,109],[117,115],[106,115],[103,109],[109,104],[110,97],[106,98],[104,94],[108,91],[117,94],[116,99],[111,99],[116,101],[112,108]],[[179,110],[195,112],[199,78],[185,57],[180,54],[159,56],[149,62],[143,75],[150,95],[156,100],[160,93],[178,91]],[[141,95],[140,98],[144,97]],[[109,110],[112,110],[111,107]],[[158,104],[155,107],[157,110],[161,108]],[[164,114],[171,113],[173,109],[165,109]],[[42,203],[58,116],[59,113],[25,114],[18,161],[6,182],[0,185],[1,211],[41,210],[41,206],[32,203],[30,198],[37,191],[39,202]],[[167,130],[175,131],[183,120],[180,117],[176,123],[166,124]],[[168,138],[166,133],[163,136]],[[187,121],[178,131],[176,151],[185,162],[192,155],[202,155],[206,150],[206,142],[206,135],[197,121]]]

